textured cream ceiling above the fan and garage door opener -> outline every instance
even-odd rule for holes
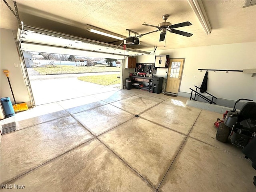
[[[13,1],[8,0],[13,8]],[[192,33],[185,37],[167,33],[166,41],[159,42],[160,32],[142,36],[141,45],[131,48],[146,51],[194,46],[209,46],[238,42],[256,41],[256,6],[242,8],[245,1],[228,0],[203,1],[212,33],[206,35],[198,18],[186,0],[20,0],[17,2],[20,20],[25,25],[35,26],[66,34],[80,36],[101,42],[115,39],[87,32],[90,24],[105,30],[128,36],[126,29],[139,34],[156,28],[142,24],[158,25],[162,15],[170,14],[172,24],[189,21],[193,25],[178,28]],[[17,29],[18,22],[6,4],[1,0],[1,28]],[[132,34],[131,34],[132,35]],[[120,42],[116,42],[119,44]]]

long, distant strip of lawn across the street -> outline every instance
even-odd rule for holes
[[[94,73],[94,72],[114,72],[120,71],[120,67],[110,66],[68,66],[68,65],[56,65],[48,67],[35,67],[34,70],[40,74],[74,74],[74,73]]]

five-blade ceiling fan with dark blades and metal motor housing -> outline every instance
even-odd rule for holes
[[[179,34],[179,35],[183,35],[183,36],[186,36],[186,37],[190,37],[190,36],[193,35],[193,34],[188,33],[188,32],[184,32],[184,31],[174,29],[174,28],[178,28],[178,27],[184,27],[184,26],[192,25],[190,22],[186,21],[186,22],[183,22],[183,23],[178,23],[178,24],[172,25],[170,22],[166,22],[166,20],[168,19],[169,16],[170,15],[163,15],[164,22],[158,24],[158,26],[149,25],[149,24],[142,24],[142,25],[145,25],[145,26],[155,27],[158,30],[148,32],[148,33],[145,33],[145,34],[140,34],[138,37],[142,37],[144,35],[154,33],[154,32],[158,32],[158,31],[162,31],[161,34],[160,34],[159,41],[164,41],[165,36],[166,36],[166,31],[169,31],[171,33],[176,33],[176,34]]]

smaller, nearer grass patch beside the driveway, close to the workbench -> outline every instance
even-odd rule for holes
[[[117,78],[117,76],[118,74],[82,76],[82,77],[78,77],[78,80],[107,86],[107,85],[120,84],[121,83],[120,78]]]

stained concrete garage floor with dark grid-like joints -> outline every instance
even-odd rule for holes
[[[254,191],[250,160],[215,139],[222,114],[186,106],[187,99],[114,90],[20,112],[17,130],[2,136],[1,184],[45,192]]]

